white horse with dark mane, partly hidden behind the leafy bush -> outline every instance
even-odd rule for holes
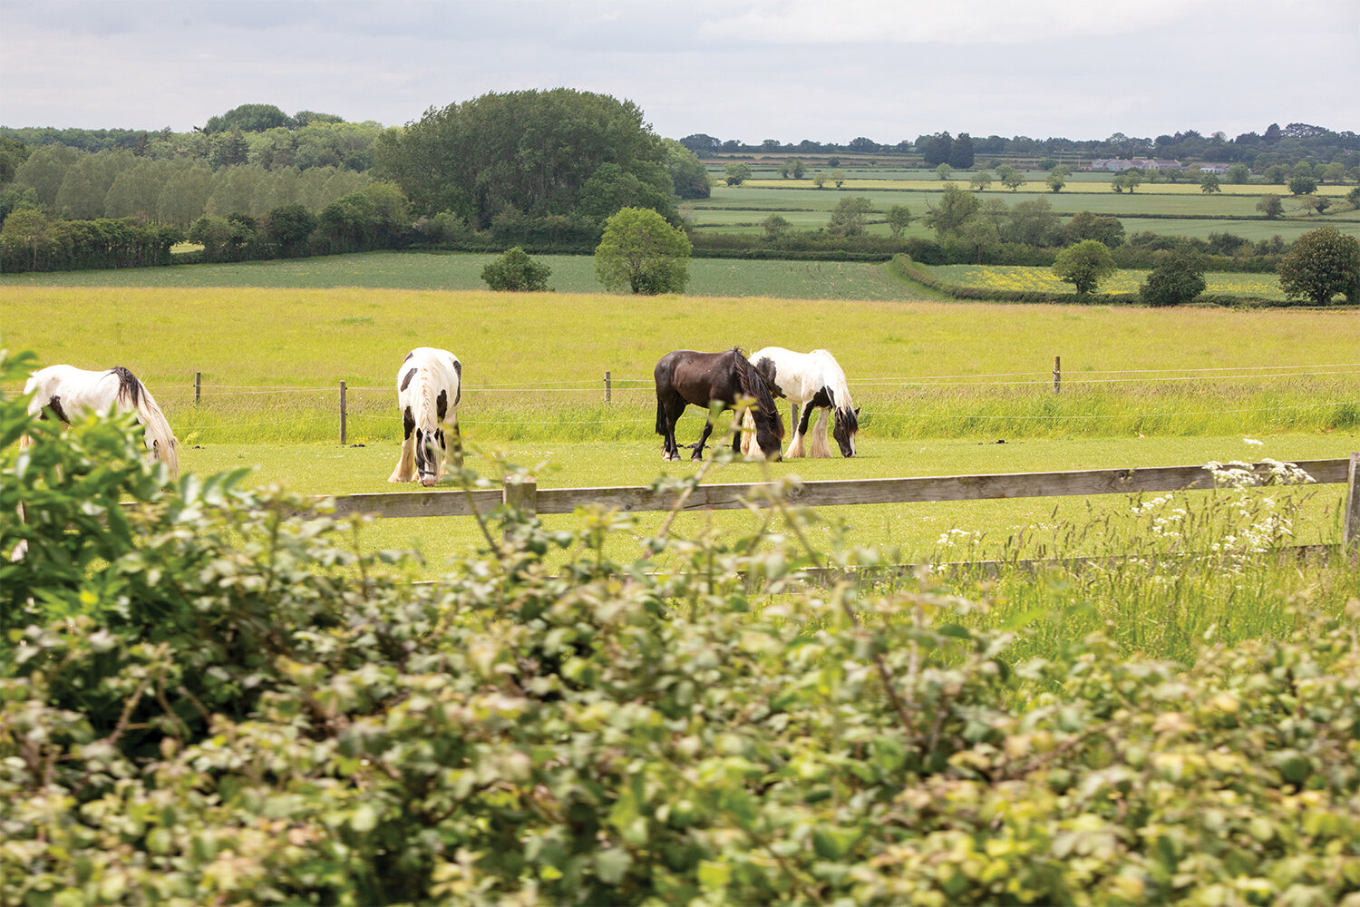
[[[136,413],[146,430],[151,458],[163,462],[171,479],[180,477],[180,443],[170,431],[170,423],[147,386],[122,366],[107,371],[48,366],[29,375],[23,393],[33,394],[29,401],[30,416],[42,419],[50,412],[64,424],[71,424],[72,419],[87,412],[117,409]]]

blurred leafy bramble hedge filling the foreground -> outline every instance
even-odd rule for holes
[[[1360,903],[1360,602],[1016,660],[986,602],[797,582],[874,555],[779,495],[789,544],[631,564],[499,510],[412,585],[128,427],[0,396],[4,903]]]

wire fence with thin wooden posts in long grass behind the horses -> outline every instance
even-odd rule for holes
[[[1176,419],[1253,417],[1272,424],[1360,422],[1360,363],[1107,369],[1065,375],[1051,371],[869,377],[851,382],[866,430],[899,430],[932,420],[953,426],[1050,423],[1166,424]],[[1132,390],[1138,388],[1138,390]],[[287,427],[292,437],[398,437],[401,416],[389,385],[295,383],[158,385],[173,426],[216,437]],[[653,379],[615,377],[465,385],[464,424],[518,431],[613,426],[638,432],[653,423]],[[1095,394],[1095,396],[1092,396]],[[1083,407],[1083,401],[1096,403]],[[1117,401],[1111,405],[1111,400]],[[1330,413],[1327,412],[1330,411]],[[698,413],[699,411],[691,411]],[[702,416],[700,416],[702,417]],[[624,428],[627,427],[627,428]],[[268,435],[268,431],[262,434]]]

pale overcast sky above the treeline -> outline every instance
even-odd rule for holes
[[[0,0],[0,125],[570,87],[673,139],[1360,131],[1357,46],[1360,0]]]

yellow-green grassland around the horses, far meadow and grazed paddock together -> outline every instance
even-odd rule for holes
[[[253,481],[306,494],[393,488],[385,481],[400,432],[392,382],[405,351],[422,344],[445,345],[462,358],[466,392],[458,415],[475,451],[469,465],[492,481],[509,465],[533,469],[544,487],[645,485],[662,470],[688,475],[696,469],[690,462],[661,464],[651,367],[672,348],[733,344],[832,349],[864,408],[861,456],[730,464],[709,481],[1312,460],[1360,447],[1360,315],[1353,311],[732,296],[639,301],[381,286],[418,279],[400,265],[447,267],[452,258],[363,256],[294,265],[318,269],[310,275],[317,283],[370,284],[328,290],[7,280],[0,284],[0,339],[10,349],[35,349],[44,363],[121,363],[140,374],[181,439],[186,472],[249,466]],[[324,267],[340,271],[322,276]],[[250,268],[256,279],[290,273]],[[160,272],[139,276],[146,273]],[[307,276],[291,272],[288,279]],[[1062,356],[1061,394],[1051,389],[1054,355]],[[602,403],[607,370],[615,382],[609,405]],[[204,377],[197,405],[196,371]],[[350,388],[348,442],[362,446],[339,445],[340,381]],[[681,441],[692,441],[699,430],[698,415],[687,416]],[[1291,518],[1292,534],[1278,538],[1338,537],[1337,485],[1258,499]],[[823,549],[836,538],[873,547],[884,560],[899,563],[1115,555],[1144,551],[1149,538],[1168,544],[1168,524],[1153,519],[1183,519],[1176,511],[1200,513],[1214,500],[1223,510],[1225,498],[1198,492],[1183,500],[1098,496],[824,509],[809,540]],[[1144,504],[1159,510],[1141,510]],[[1270,519],[1259,513],[1250,519],[1258,517]],[[568,526],[578,519],[551,517],[547,524]],[[611,534],[609,553],[631,560],[662,519],[636,515]],[[758,530],[760,522],[744,511],[685,514],[673,530],[726,544]],[[785,526],[777,519],[772,529]],[[1219,544],[1186,529],[1187,538],[1191,534],[1195,544],[1201,538]],[[392,519],[367,526],[362,540],[366,548],[415,547],[426,558],[423,575],[435,575],[479,547],[481,533],[469,518]],[[1125,621],[1121,627],[1137,645],[1149,624],[1129,608],[1152,601],[1157,590],[1144,589],[1140,583],[1152,581],[1141,574],[1119,574],[1118,587],[1112,575],[1092,574],[1103,578],[1102,589],[1087,589],[1091,578],[1042,587],[1016,581],[1004,594],[1020,608],[1068,606],[1078,601],[1073,596],[1081,601],[1089,596],[1102,602],[1100,613]],[[1208,579],[1221,585],[1217,572]],[[1287,606],[1297,596],[1341,589],[1333,574],[1311,568],[1253,574],[1251,582],[1269,587],[1259,600],[1274,615],[1268,621],[1272,632],[1288,627]],[[1183,619],[1157,627],[1174,627],[1183,636],[1206,617],[1231,616],[1219,585],[1205,585],[1209,592],[1198,597],[1160,589],[1157,594],[1174,593],[1167,601],[1183,601],[1185,608],[1178,605]],[[1330,594],[1323,598],[1330,601]],[[1205,596],[1217,598],[1210,602]]]

